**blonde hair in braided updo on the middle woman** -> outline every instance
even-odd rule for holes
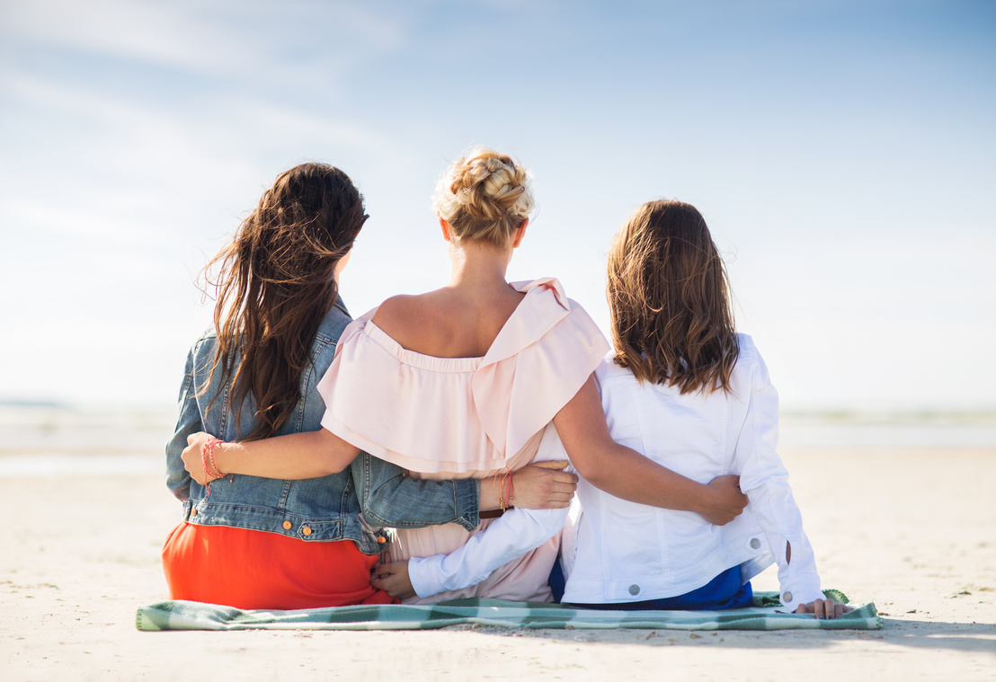
[[[475,149],[439,178],[432,208],[458,239],[506,246],[535,200],[530,174],[511,157]]]

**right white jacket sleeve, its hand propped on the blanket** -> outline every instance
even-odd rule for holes
[[[789,609],[822,599],[820,575],[802,514],[789,487],[789,472],[778,456],[778,391],[771,385],[768,367],[757,355],[751,377],[750,402],[734,454],[740,489],[750,499],[768,547],[778,564],[780,598]],[[792,544],[791,564],[786,545]]]

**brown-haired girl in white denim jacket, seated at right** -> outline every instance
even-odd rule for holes
[[[597,608],[733,608],[778,564],[782,603],[833,618],[788,472],[778,394],[754,342],[733,328],[729,284],[705,220],[680,201],[629,217],[609,254],[614,355],[596,370],[614,438],[693,480],[740,476],[732,523],[635,505],[583,480],[565,531],[564,601]]]

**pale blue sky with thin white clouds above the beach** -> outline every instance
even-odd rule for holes
[[[996,4],[0,2],[0,400],[165,407],[200,269],[282,170],[371,219],[354,315],[448,280],[431,192],[534,174],[509,270],[608,332],[644,201],[702,212],[791,410],[996,409]]]

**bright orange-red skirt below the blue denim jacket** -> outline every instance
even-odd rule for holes
[[[308,543],[225,526],[182,523],[162,547],[173,599],[236,608],[396,603],[371,586],[376,557],[351,541]]]

